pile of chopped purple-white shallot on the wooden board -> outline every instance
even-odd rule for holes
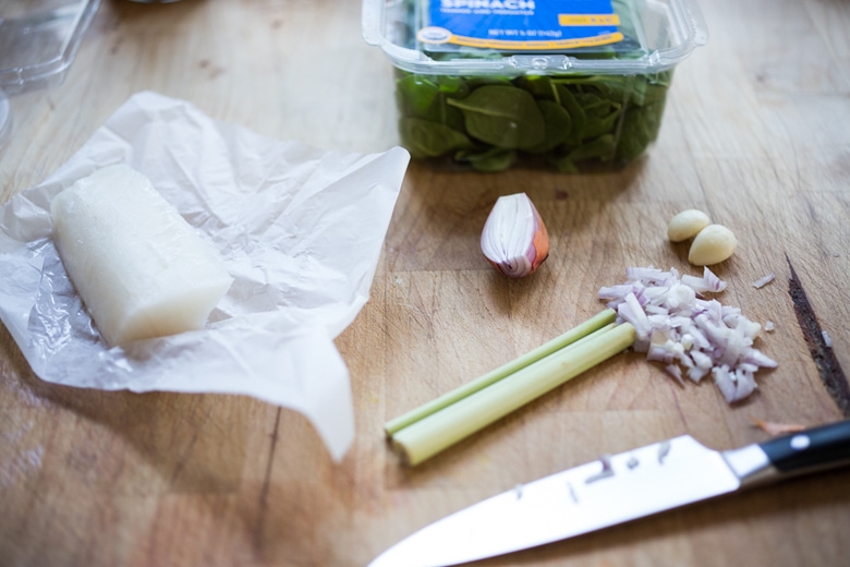
[[[683,376],[700,382],[711,373],[732,403],[756,388],[760,367],[776,367],[753,347],[762,326],[706,297],[726,289],[707,267],[701,278],[653,267],[630,267],[626,275],[627,284],[600,288],[599,299],[617,310],[619,321],[634,325],[634,350],[665,364],[680,384]]]

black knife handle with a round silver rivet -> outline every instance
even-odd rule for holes
[[[758,446],[782,473],[837,467],[850,462],[850,420],[792,433]]]

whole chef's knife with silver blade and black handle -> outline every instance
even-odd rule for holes
[[[725,451],[683,435],[518,485],[423,528],[368,567],[459,565],[848,463],[850,421]]]

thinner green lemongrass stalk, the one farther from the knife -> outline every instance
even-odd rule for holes
[[[511,362],[508,362],[507,364],[503,364],[498,369],[490,371],[487,374],[484,374],[483,376],[479,376],[478,378],[475,378],[474,381],[464,384],[463,386],[460,386],[459,388],[456,388],[447,394],[444,394],[439,398],[436,398],[427,403],[420,406],[418,408],[415,408],[402,415],[399,415],[393,420],[388,421],[384,425],[384,430],[387,432],[387,435],[391,437],[400,430],[424,418],[427,418],[432,413],[437,412],[448,406],[451,406],[458,400],[471,396],[472,394],[475,394],[476,391],[486,388],[490,384],[494,384],[505,378],[506,376],[510,376],[514,372],[524,369],[525,366],[534,362],[537,362],[538,360],[545,357],[548,357],[552,352],[557,352],[562,348],[574,343],[576,340],[588,336],[590,334],[600,329],[605,325],[614,323],[616,317],[617,317],[617,313],[612,309],[607,309],[602,313],[588,318],[581,325],[573,327],[572,329],[568,330],[563,335],[556,337],[550,341],[546,342],[545,345],[537,347],[531,352],[527,352],[522,357],[514,359]]]

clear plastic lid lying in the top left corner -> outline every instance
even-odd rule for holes
[[[0,0],[0,91],[12,95],[61,83],[99,5]]]

